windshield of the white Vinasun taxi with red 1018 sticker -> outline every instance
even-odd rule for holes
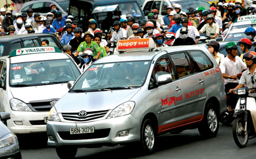
[[[71,59],[10,64],[10,86],[25,87],[75,81],[80,71]]]

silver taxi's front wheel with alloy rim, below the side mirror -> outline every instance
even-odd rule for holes
[[[155,132],[153,124],[150,119],[146,119],[142,122],[141,126],[141,148],[143,153],[151,154],[154,152],[155,146]]]

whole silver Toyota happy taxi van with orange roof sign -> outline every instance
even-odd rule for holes
[[[154,48],[151,40],[120,40],[117,50]],[[48,146],[60,158],[77,147],[129,142],[152,152],[166,132],[198,128],[215,137],[226,109],[222,73],[205,47],[129,51],[95,61],[51,109]]]

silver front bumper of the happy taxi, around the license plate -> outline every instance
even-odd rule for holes
[[[48,135],[48,146],[58,147],[62,145],[88,145],[88,144],[119,144],[140,140],[140,123],[142,118],[134,118],[131,114],[86,123],[68,123],[48,121],[46,132]],[[94,126],[95,133],[72,134],[69,128]],[[129,135],[119,137],[120,131],[129,130]],[[98,132],[97,132],[98,131]],[[49,136],[53,140],[49,140]]]

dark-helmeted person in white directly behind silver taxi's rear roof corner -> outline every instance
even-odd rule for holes
[[[221,63],[221,60],[224,59],[224,55],[219,53],[219,43],[217,41],[210,41],[206,44],[208,46],[209,52],[212,54],[213,58],[217,62],[218,66]]]

